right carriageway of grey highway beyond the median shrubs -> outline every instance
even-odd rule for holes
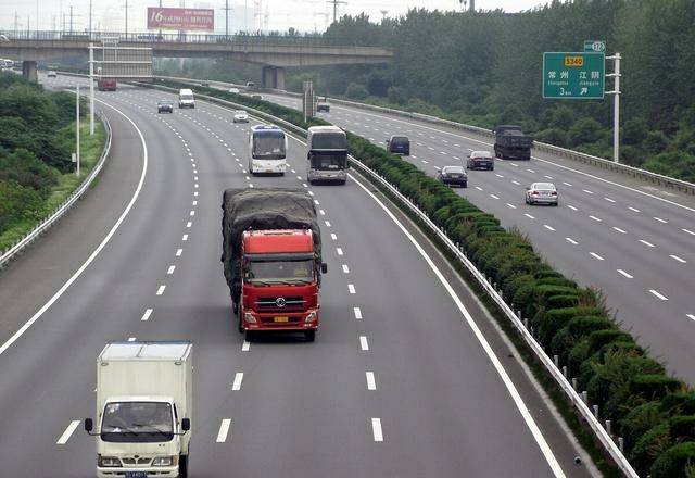
[[[300,109],[296,98],[264,98]],[[318,116],[380,146],[408,136],[412,155],[403,160],[432,175],[465,165],[473,150],[492,151],[482,137],[334,103]],[[545,153],[497,160],[494,171],[468,176],[462,196],[527,235],[566,276],[605,291],[623,327],[695,383],[695,198]],[[555,183],[559,207],[526,205],[523,188],[533,181]]]

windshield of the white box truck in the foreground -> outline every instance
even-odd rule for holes
[[[174,438],[172,405],[163,402],[109,402],[101,423],[103,441],[152,443]]]

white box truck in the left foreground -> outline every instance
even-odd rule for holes
[[[110,342],[97,361],[97,477],[188,476],[192,344]]]

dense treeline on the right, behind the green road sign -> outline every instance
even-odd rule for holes
[[[612,158],[612,99],[543,100],[544,51],[606,40],[620,52],[621,161],[695,180],[695,2],[554,1],[519,14],[410,10],[371,23],[344,16],[327,37],[393,49],[388,65],[294,70],[315,89],[493,127],[520,123],[540,141]],[[612,62],[606,62],[612,71]],[[612,88],[607,79],[606,89]]]

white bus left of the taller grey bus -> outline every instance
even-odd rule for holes
[[[287,136],[275,125],[256,125],[249,131],[249,172],[280,174],[287,168]]]

